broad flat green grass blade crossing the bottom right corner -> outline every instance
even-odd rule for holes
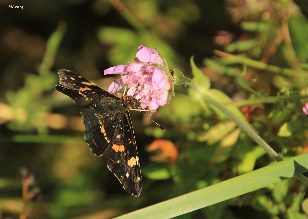
[[[308,153],[305,153],[116,218],[172,218],[261,189],[307,171]]]

